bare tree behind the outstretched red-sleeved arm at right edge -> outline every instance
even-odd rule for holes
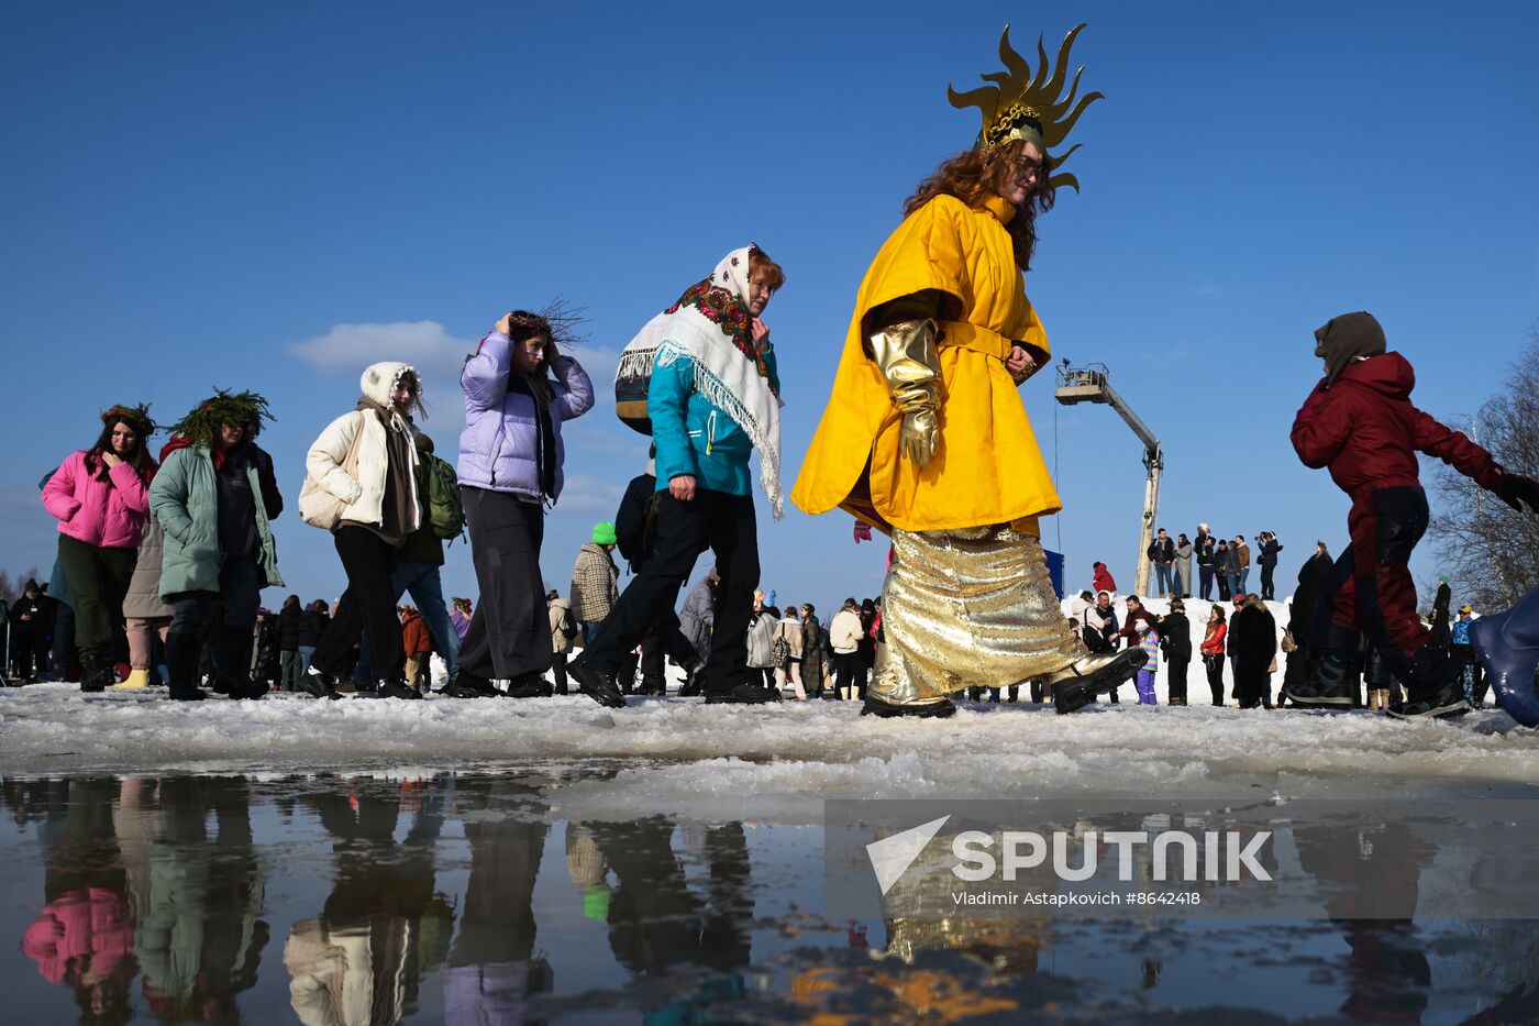
[[[1539,322],[1470,434],[1508,473],[1539,478]],[[1434,493],[1427,536],[1462,601],[1497,612],[1539,585],[1539,516],[1510,508],[1451,467],[1437,468]]]

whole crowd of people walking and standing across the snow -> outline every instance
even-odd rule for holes
[[[1008,37],[999,52],[1007,66],[983,75],[990,85],[951,94],[982,114],[974,145],[917,185],[866,270],[791,488],[805,513],[840,508],[891,539],[880,605],[851,599],[825,632],[811,605],[782,612],[757,593],[756,479],[771,515],[783,510],[783,382],[763,316],[786,276],[748,245],[625,347],[616,413],[651,436],[648,468],[631,481],[616,519],[594,527],[565,609],[548,598],[540,550],[565,479],[562,425],[594,407],[594,385],[571,353],[574,319],[559,305],[497,319],[460,371],[465,422],[452,465],[423,431],[417,370],[392,360],[363,368],[356,405],[320,430],[305,458],[297,502],[306,524],[331,535],[346,588],[308,658],[295,647],[283,670],[280,656],[282,679],[297,693],[337,698],[351,675],[359,695],[419,699],[429,644],[443,655],[442,693],[451,698],[537,698],[571,681],[591,699],[623,707],[637,672],[640,690],[657,692],[673,659],[683,667],[683,692],[706,702],[770,702],[788,689],[860,698],[862,713],[877,716],[939,718],[953,715],[954,695],[999,686],[1028,684],[1051,695],[1059,713],[1116,698],[1125,682],[1139,701],[1154,701],[1151,669],[1163,655],[1180,667],[1173,696],[1185,701],[1193,653],[1176,635],[1196,570],[1196,601],[1216,588],[1220,602],[1234,604],[1227,622],[1222,612],[1210,615],[1197,645],[1210,686],[1217,695],[1227,644],[1239,702],[1270,704],[1276,624],[1265,602],[1276,599],[1284,550],[1271,531],[1253,547],[1207,524],[1191,538],[1160,530],[1148,558],[1154,590],[1171,602],[1163,629],[1134,598],[1114,630],[1107,622],[1088,630],[1088,618],[1102,616],[1094,595],[1079,599],[1080,616],[1063,615],[1039,538],[1040,518],[1062,502],[1019,394],[1051,362],[1023,271],[1037,217],[1057,188],[1079,185],[1060,168],[1073,148],[1054,156],[1050,145],[1060,145],[1100,94],[1070,112],[1057,96],[1062,74],[1028,74]],[[1324,547],[1305,562],[1307,587],[1294,595],[1285,638],[1294,645],[1287,699],[1350,706],[1354,681],[1367,676],[1379,704],[1388,689],[1373,687],[1377,659],[1404,686],[1404,696],[1387,702],[1391,715],[1459,715],[1468,701],[1451,632],[1442,641],[1416,616],[1407,568],[1428,519],[1417,453],[1444,459],[1513,508],[1539,511],[1539,482],[1416,410],[1411,367],[1387,351],[1370,314],[1324,325],[1314,356],[1325,376],[1291,441],[1305,465],[1327,468],[1351,496],[1351,545],[1334,564]],[[51,471],[43,485],[43,505],[58,519],[51,598],[71,607],[83,690],[117,681],[120,633],[134,682],[143,682],[155,639],[163,642],[172,699],[205,698],[205,681],[232,698],[271,690],[252,673],[260,593],[283,585],[271,524],[285,496],[272,456],[257,444],[266,419],[265,397],[219,391],[171,425],[155,459],[148,408],[115,405],[102,414],[95,442]],[[479,598],[456,615],[440,568],[445,539],[462,530]],[[634,572],[623,590],[616,548]],[[706,550],[714,568],[676,612]],[[1094,588],[1116,592],[1103,564]],[[408,592],[414,613],[403,622]],[[1467,630],[1471,650],[1499,667],[1504,707],[1536,726],[1539,636],[1530,635],[1539,632],[1528,624],[1539,622],[1539,593],[1524,601],[1530,612]],[[14,633],[35,652],[34,616],[18,619]],[[579,638],[580,653],[571,655]]]

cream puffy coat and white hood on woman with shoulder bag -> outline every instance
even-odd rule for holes
[[[359,390],[365,397],[389,410],[392,408],[391,393],[396,390],[396,382],[406,371],[417,376],[420,388],[422,376],[412,367],[383,362],[363,370]],[[329,498],[336,505],[336,519],[354,524],[383,524],[385,479],[389,474],[386,430],[406,431],[412,439],[417,436],[417,428],[406,417],[394,414],[391,427],[386,428],[372,410],[352,410],[326,425],[326,430],[320,433],[305,456],[305,474],[314,485],[314,488],[306,488],[306,495],[300,495],[300,515],[306,522],[315,524],[320,519],[315,507]],[[356,450],[354,445],[357,445]],[[422,525],[422,499],[417,495],[417,447],[409,445],[408,450],[411,453],[411,473],[405,474],[405,479],[411,488],[411,501],[406,504],[409,510],[406,533],[409,535]],[[354,456],[351,461],[349,453]]]

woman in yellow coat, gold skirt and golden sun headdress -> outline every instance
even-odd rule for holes
[[[839,507],[893,538],[866,713],[946,716],[962,689],[1039,678],[1073,712],[1143,661],[1093,656],[1067,627],[1037,541],[1037,518],[1060,502],[1019,393],[1050,354],[1022,285],[1036,216],[1057,185],[1077,188],[1053,176],[1048,148],[1099,97],[1057,99],[1077,32],[1047,80],[1007,29],[1010,75],[951,94],[983,109],[983,132],[920,183],[866,271],[791,493],[808,513]]]

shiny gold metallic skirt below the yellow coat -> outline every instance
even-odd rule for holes
[[[1068,629],[1040,542],[1002,524],[894,531],[868,695],[940,701],[1059,673],[1088,653]]]

